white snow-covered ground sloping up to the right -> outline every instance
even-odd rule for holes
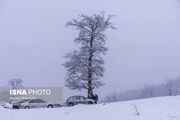
[[[0,120],[180,120],[180,96],[54,109],[0,108]]]

